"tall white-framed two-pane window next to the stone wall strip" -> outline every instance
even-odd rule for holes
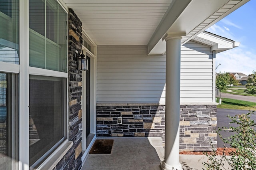
[[[68,14],[56,0],[29,0],[31,168],[67,139],[67,24]]]

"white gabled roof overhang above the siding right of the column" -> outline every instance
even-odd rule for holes
[[[192,38],[192,40],[210,46],[211,50],[216,51],[216,53],[238,47],[240,44],[240,42],[235,42],[233,40],[205,31]]]

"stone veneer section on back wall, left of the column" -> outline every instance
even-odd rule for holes
[[[154,105],[97,106],[97,136],[163,137],[164,110]]]

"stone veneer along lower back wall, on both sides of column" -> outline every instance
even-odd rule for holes
[[[217,146],[216,105],[180,106],[180,151],[212,150]],[[118,124],[122,117],[122,124]],[[97,105],[97,136],[162,137],[164,145],[165,106]]]

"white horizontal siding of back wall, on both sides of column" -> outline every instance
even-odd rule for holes
[[[146,55],[144,45],[99,45],[98,103],[165,103],[165,55]],[[181,47],[180,101],[213,101],[210,47],[188,42]]]

